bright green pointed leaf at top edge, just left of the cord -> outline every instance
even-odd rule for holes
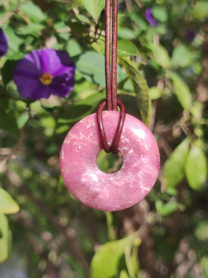
[[[81,0],[82,4],[86,8],[86,10],[91,14],[91,16],[95,19],[95,21],[98,20],[100,12],[105,6],[104,0]]]

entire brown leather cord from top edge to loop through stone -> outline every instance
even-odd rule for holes
[[[110,42],[111,42],[111,26],[110,26],[110,0],[105,0],[105,84],[106,84],[106,100],[101,102],[97,108],[97,124],[99,129],[102,146],[105,152],[118,152],[119,140],[125,119],[125,107],[123,103],[117,99],[117,0],[112,0],[112,51],[111,51],[111,72],[110,72]],[[117,111],[120,108],[120,118],[118,121],[115,137],[111,146],[108,145],[104,126],[102,121],[102,110]]]

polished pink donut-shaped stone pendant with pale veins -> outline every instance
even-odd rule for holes
[[[118,111],[103,111],[107,141],[114,137]],[[60,150],[60,169],[69,191],[85,205],[100,210],[120,210],[141,200],[150,191],[159,171],[159,151],[149,129],[126,114],[119,142],[123,156],[114,173],[101,171],[96,157],[102,149],[96,114],[77,122],[67,133]]]

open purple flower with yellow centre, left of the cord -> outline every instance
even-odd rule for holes
[[[65,51],[32,50],[18,61],[13,80],[23,97],[68,96],[74,86],[75,65]]]

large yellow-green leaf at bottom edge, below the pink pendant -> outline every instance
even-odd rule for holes
[[[112,240],[100,246],[91,260],[91,278],[111,278],[119,273],[119,261],[123,255],[124,249],[133,244],[137,233],[131,233],[129,236]]]

